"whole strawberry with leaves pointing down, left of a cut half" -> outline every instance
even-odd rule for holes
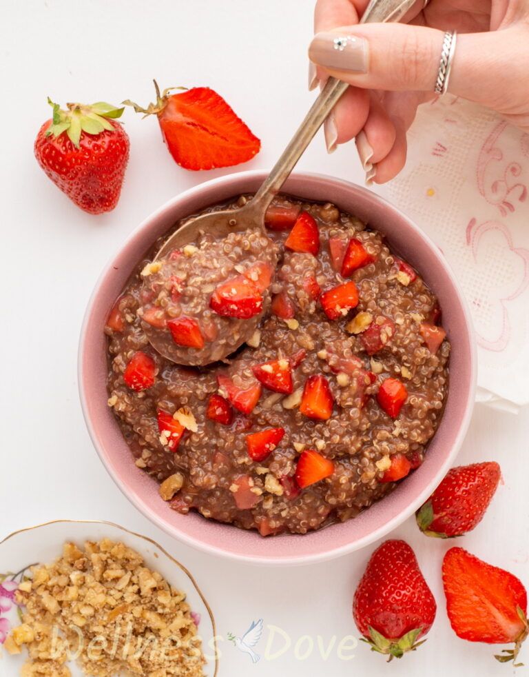
[[[401,658],[423,643],[417,639],[431,628],[435,610],[411,547],[404,540],[386,540],[373,552],[353,600],[364,642],[388,660]]]

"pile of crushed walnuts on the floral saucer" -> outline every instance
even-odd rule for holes
[[[4,645],[28,649],[22,677],[70,677],[68,660],[96,677],[203,677],[185,594],[123,543],[65,543],[61,558],[31,572],[16,593],[22,623]]]

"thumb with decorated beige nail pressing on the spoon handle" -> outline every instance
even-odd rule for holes
[[[356,87],[433,92],[443,39],[442,30],[402,23],[346,26],[316,34],[309,58]],[[448,90],[497,108],[500,97],[506,103],[509,83],[519,88],[527,81],[528,59],[523,30],[457,34]]]

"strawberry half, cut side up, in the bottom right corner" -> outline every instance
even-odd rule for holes
[[[504,649],[504,655],[495,658],[500,663],[516,660],[529,632],[523,583],[504,569],[453,547],[444,556],[443,585],[455,634],[469,642],[514,642],[514,649]]]

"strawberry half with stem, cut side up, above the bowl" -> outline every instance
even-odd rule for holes
[[[178,94],[168,88],[160,94],[156,81],[156,103],[136,112],[158,117],[163,140],[180,167],[210,170],[247,162],[261,147],[259,139],[237,117],[217,92],[209,87],[194,87]]]

